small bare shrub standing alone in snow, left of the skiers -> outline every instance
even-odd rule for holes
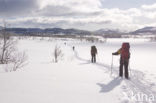
[[[62,50],[59,46],[56,45],[54,48],[54,61],[55,61],[55,63],[57,63],[62,58],[63,58]]]

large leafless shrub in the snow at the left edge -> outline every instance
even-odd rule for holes
[[[0,64],[7,65],[5,71],[16,71],[26,63],[26,53],[18,52],[16,45],[17,40],[4,27],[0,34]]]

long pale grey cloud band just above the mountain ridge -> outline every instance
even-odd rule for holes
[[[96,22],[96,21],[70,21],[70,20],[58,20],[54,22],[38,22],[37,19],[30,19],[25,21],[16,21],[13,23],[13,27],[39,27],[39,28],[53,28],[53,27],[61,27],[61,28],[87,28],[93,25],[109,25],[112,22],[109,20]]]

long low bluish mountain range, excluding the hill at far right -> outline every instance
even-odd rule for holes
[[[99,29],[97,31],[87,31],[79,29],[62,29],[62,28],[7,28],[7,31],[17,33],[17,34],[27,34],[27,33],[52,33],[52,34],[78,34],[78,35],[116,35],[123,34],[123,32],[116,29]]]

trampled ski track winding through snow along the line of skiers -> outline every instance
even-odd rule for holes
[[[83,58],[81,58],[78,54],[77,51],[74,52],[75,53],[75,57],[80,60],[80,61],[86,61],[86,62],[90,62],[89,60],[85,60]],[[106,72],[111,72],[111,66],[108,64],[104,64],[104,63],[94,63],[97,66],[102,66],[105,67],[103,70]],[[101,68],[100,68],[101,69]],[[127,94],[127,96],[129,97],[130,100],[130,91],[132,91],[134,93],[134,95],[136,95],[137,93],[143,93],[146,94],[147,96],[149,95],[154,95],[156,96],[156,91],[152,90],[152,86],[150,84],[150,82],[143,80],[144,79],[144,73],[141,71],[137,71],[137,70],[132,70],[129,69],[129,74],[130,74],[130,79],[126,80],[123,79],[126,86],[122,86],[122,90]],[[118,67],[114,67],[113,68],[113,76],[111,76],[112,78],[114,78],[114,76],[118,76]],[[122,103],[132,103],[132,102],[128,102],[128,101],[123,101]],[[133,103],[147,103],[147,101],[133,101]],[[155,101],[151,101],[150,103],[156,103]]]

